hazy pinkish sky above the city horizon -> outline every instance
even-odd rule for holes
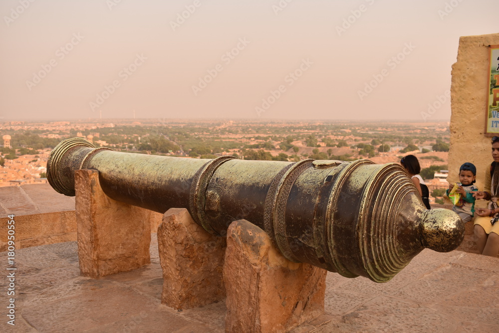
[[[0,117],[450,119],[497,0],[1,0]],[[486,73],[484,73],[486,75]]]

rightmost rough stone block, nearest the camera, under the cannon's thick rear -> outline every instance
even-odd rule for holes
[[[285,259],[250,222],[233,222],[224,265],[226,332],[287,332],[323,315],[326,273]]]

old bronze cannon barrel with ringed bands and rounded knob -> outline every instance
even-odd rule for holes
[[[51,152],[48,181],[74,196],[78,169],[98,170],[112,199],[160,213],[187,208],[214,235],[246,219],[287,259],[349,278],[389,281],[424,248],[449,252],[464,238],[459,216],[426,210],[395,163],[190,159],[116,152],[73,138]]]

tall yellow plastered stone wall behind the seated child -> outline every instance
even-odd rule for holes
[[[459,180],[459,167],[471,162],[477,167],[477,183],[484,188],[485,173],[493,161],[490,137],[484,136],[488,103],[489,48],[499,44],[499,33],[463,36],[457,62],[452,66],[451,146],[449,182]],[[437,111],[438,112],[438,111]]]

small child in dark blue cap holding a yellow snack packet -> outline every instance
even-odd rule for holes
[[[466,162],[459,168],[459,181],[456,183],[458,189],[455,191],[461,195],[461,198],[454,204],[452,210],[458,213],[464,223],[471,221],[475,213],[475,197],[471,192],[478,191],[478,188],[473,185],[475,183],[475,176],[477,175],[477,168],[472,163]],[[450,184],[447,190],[447,196],[451,192],[455,184]]]

